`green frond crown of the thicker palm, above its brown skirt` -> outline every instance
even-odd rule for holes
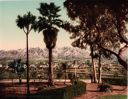
[[[41,16],[38,17],[39,21],[34,27],[35,30],[38,30],[38,32],[40,32],[45,29],[53,28],[54,25],[60,27],[63,22],[59,19],[60,10],[60,7],[56,6],[54,3],[40,3],[40,8],[38,8],[38,11]]]

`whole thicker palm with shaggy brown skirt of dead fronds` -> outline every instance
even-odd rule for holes
[[[36,25],[38,32],[42,31],[44,36],[44,42],[49,51],[49,69],[48,69],[48,84],[53,86],[53,69],[52,69],[52,49],[56,46],[58,28],[62,24],[62,20],[59,19],[60,7],[54,3],[40,3],[38,8],[40,16]]]

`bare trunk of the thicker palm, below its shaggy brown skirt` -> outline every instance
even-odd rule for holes
[[[52,48],[49,48],[49,69],[48,69],[48,83],[53,86],[53,69],[52,69]]]

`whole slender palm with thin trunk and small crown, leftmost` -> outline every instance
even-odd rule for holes
[[[30,12],[24,14],[23,16],[18,15],[16,19],[17,26],[22,29],[26,35],[26,65],[27,65],[27,94],[29,91],[29,53],[28,53],[28,35],[30,31],[33,29],[36,17],[32,15]]]

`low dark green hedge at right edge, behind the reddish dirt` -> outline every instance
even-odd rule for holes
[[[127,86],[127,78],[102,78],[102,81],[111,85]]]

